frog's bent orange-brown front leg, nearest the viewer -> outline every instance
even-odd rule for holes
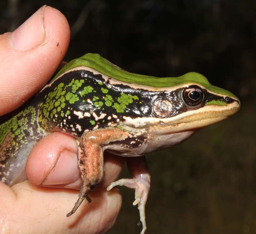
[[[103,178],[103,147],[112,141],[124,140],[129,133],[119,128],[95,129],[83,133],[78,145],[78,167],[81,171],[83,184],[80,189],[79,198],[72,211],[72,215],[83,200],[86,198],[91,202],[89,193],[101,182]]]

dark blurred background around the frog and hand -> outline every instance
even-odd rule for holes
[[[0,34],[44,4],[69,21],[66,61],[93,52],[133,73],[199,72],[241,100],[236,115],[147,156],[146,233],[256,233],[256,1],[6,0]],[[120,177],[130,177],[127,168]],[[120,189],[123,206],[108,233],[139,234],[134,191]]]

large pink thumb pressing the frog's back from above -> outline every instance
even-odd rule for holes
[[[44,86],[62,61],[69,39],[65,16],[47,6],[14,32],[0,35],[0,115]]]

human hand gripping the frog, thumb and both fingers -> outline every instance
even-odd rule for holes
[[[12,33],[0,35],[0,115],[15,110],[51,78],[66,54],[69,25],[61,12],[43,6]],[[66,217],[81,185],[73,137],[55,132],[27,160],[29,180],[11,188],[0,182],[0,233],[105,233],[121,207],[117,179],[122,157],[104,155],[104,178],[75,214]],[[44,183],[44,186],[38,186]]]

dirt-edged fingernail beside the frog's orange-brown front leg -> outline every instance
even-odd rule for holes
[[[77,154],[64,150],[60,153],[55,167],[46,177],[42,185],[69,184],[80,178],[77,166]]]

